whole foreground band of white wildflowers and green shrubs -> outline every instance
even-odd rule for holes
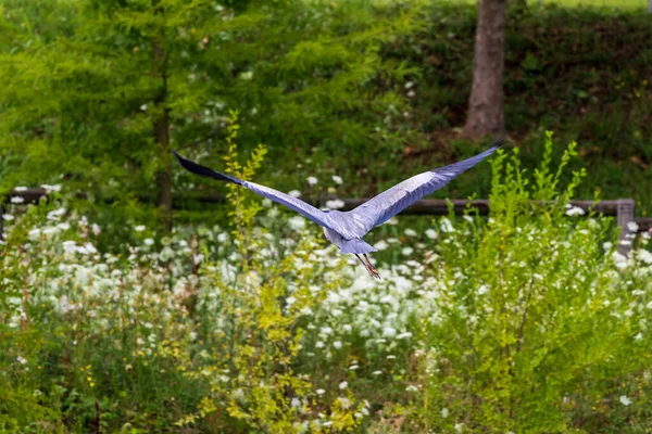
[[[265,149],[241,163],[235,114],[227,128],[226,170],[254,176]],[[652,255],[569,217],[574,144],[560,164],[544,148],[531,176],[492,159],[488,220],[399,232],[409,246],[390,222],[383,281],[244,189],[228,228],[129,227],[125,254],[98,250],[65,195],[11,205],[0,430],[644,431]]]

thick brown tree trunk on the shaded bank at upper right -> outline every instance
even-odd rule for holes
[[[478,0],[473,87],[464,135],[476,139],[505,132],[503,72],[505,0]]]

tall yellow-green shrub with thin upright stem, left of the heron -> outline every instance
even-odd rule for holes
[[[228,153],[223,158],[229,174],[250,178],[260,167],[265,149],[259,146],[248,164],[241,166],[234,141],[239,131],[235,122],[231,114]],[[246,204],[243,189],[233,186],[228,199],[235,225],[231,234],[240,258],[238,275],[234,281],[220,268],[208,267],[205,277],[220,294],[220,329],[203,350],[211,362],[193,363],[191,353],[176,355],[180,366],[193,368],[186,375],[205,379],[211,394],[202,399],[197,414],[186,416],[178,424],[195,422],[198,417],[220,410],[265,433],[301,433],[309,427],[311,432],[321,432],[313,412],[322,407],[322,411],[329,413],[334,430],[350,431],[358,425],[353,413],[364,406],[352,407],[355,401],[349,394],[346,401],[336,400],[330,408],[323,409],[324,403],[317,406],[314,400],[310,375],[296,372],[304,333],[300,324],[302,318],[341,282],[322,283],[321,291],[314,293],[311,285],[319,280],[316,270],[310,266],[296,268],[298,261],[309,263],[309,252],[316,246],[312,237],[302,238],[296,247],[297,254],[276,264],[271,265],[264,256],[258,255],[266,244],[265,238],[254,235],[254,217],[261,207],[255,203]],[[231,423],[227,419],[224,429]]]

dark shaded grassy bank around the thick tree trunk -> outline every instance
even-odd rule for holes
[[[410,116],[437,152],[410,158],[410,165],[402,165],[410,170],[372,161],[372,177],[389,183],[408,171],[473,154],[473,144],[455,143],[454,130],[466,116],[476,18],[475,2],[438,2],[427,33],[388,50],[389,58],[421,67],[422,74],[411,80]],[[579,143],[587,182],[578,187],[578,197],[592,197],[598,188],[605,199],[634,197],[639,209],[651,212],[650,38],[649,16],[640,10],[569,9],[550,2],[528,2],[524,13],[509,9],[505,125],[521,148],[524,167],[538,165],[543,151],[539,136],[554,130],[563,141]],[[489,179],[489,173],[479,174],[442,196],[487,197]]]

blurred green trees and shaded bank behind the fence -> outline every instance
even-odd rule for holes
[[[648,214],[644,2],[506,7],[505,129],[525,166],[553,130],[579,143],[589,179],[578,196],[634,197]],[[4,0],[1,11],[0,193],[87,192],[78,207],[111,235],[117,219],[170,227],[173,206],[190,209],[174,213],[183,221],[220,218],[191,200],[213,186],[167,151],[221,167],[229,111],[243,149],[269,150],[256,181],[317,199],[328,186],[309,191],[308,176],[338,175],[340,196],[369,196],[486,145],[461,133],[472,1]],[[488,183],[480,167],[438,196],[484,197]]]

